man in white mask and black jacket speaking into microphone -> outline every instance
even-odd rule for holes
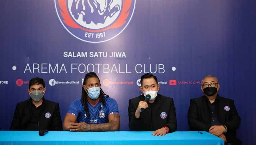
[[[152,135],[164,136],[177,130],[173,99],[157,94],[159,88],[157,78],[152,74],[141,77],[140,90],[143,95],[129,100],[129,127],[133,131],[154,131]],[[149,102],[144,101],[146,95],[151,95]]]

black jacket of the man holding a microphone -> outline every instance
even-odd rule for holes
[[[136,118],[135,111],[139,102],[144,100],[144,95],[129,100],[129,127],[133,131],[156,131],[164,126],[169,128],[169,132],[177,130],[176,112],[172,98],[158,94],[154,103],[148,103],[149,107],[140,113],[140,118]],[[161,118],[161,113],[166,113],[166,117]]]

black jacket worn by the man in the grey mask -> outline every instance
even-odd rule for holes
[[[46,113],[51,114],[50,118],[45,117]],[[10,130],[24,131],[27,122],[31,118],[32,109],[30,98],[21,103],[17,103]],[[46,99],[43,100],[43,108],[38,122],[38,130],[62,131],[62,122],[58,103]]]

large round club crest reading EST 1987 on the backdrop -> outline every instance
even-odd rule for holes
[[[129,24],[136,0],[55,0],[59,20],[79,40],[113,39]]]

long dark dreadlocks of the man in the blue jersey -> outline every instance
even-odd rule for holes
[[[95,72],[89,72],[85,75],[85,78],[84,78],[84,82],[83,82],[83,85],[86,85],[86,81],[88,78],[91,78],[91,77],[96,77],[99,79],[99,77],[96,75]],[[99,79],[100,80],[100,79]],[[106,97],[109,97],[109,95],[106,95],[103,90],[100,88],[100,95],[99,95],[99,98],[100,98],[100,102],[102,102],[103,106],[106,106],[106,102],[105,102],[105,96]],[[81,99],[81,103],[82,105],[84,106],[84,110],[85,112],[87,113],[87,116],[90,117],[90,112],[89,112],[89,107],[88,107],[88,99],[87,97],[89,97],[86,93],[86,91],[84,90],[83,86],[82,86],[82,99]]]

